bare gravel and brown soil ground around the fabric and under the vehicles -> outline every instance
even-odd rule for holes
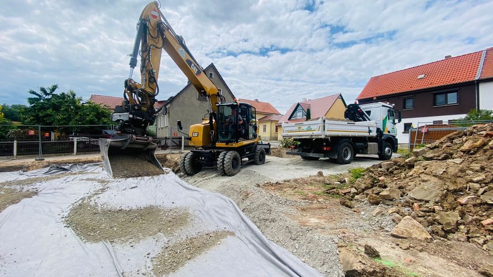
[[[268,239],[326,276],[338,276],[342,268],[348,276],[475,276],[492,260],[471,243],[395,238],[390,232],[396,224],[387,212],[391,206],[345,202],[342,191],[349,190],[352,178],[348,169],[380,163],[376,156],[357,156],[351,164],[340,165],[328,159],[305,161],[274,149],[266,164],[244,165],[233,177],[220,176],[213,168],[185,176],[178,172],[179,157],[157,155],[163,167],[177,172],[185,182],[233,199]],[[0,163],[0,172],[98,161],[98,155],[10,161]],[[34,195],[22,193],[22,197]],[[3,195],[12,199],[11,205],[22,199],[10,191],[0,198]],[[380,257],[370,257],[365,246]]]

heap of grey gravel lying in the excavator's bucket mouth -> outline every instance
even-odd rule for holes
[[[113,178],[156,176],[165,173],[142,156],[110,155],[109,163]]]

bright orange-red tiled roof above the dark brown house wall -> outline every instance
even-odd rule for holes
[[[473,52],[372,77],[357,99],[474,81],[483,52]],[[418,79],[421,75],[424,77]]]

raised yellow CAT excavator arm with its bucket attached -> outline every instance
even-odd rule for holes
[[[111,161],[116,162],[127,158],[143,159],[162,170],[154,152],[157,145],[152,138],[146,136],[149,125],[154,124],[156,114],[156,96],[159,94],[158,76],[162,50],[173,59],[197,91],[206,96],[210,105],[210,124],[213,125],[217,111],[216,103],[223,97],[218,94],[214,83],[206,76],[203,68],[193,57],[185,45],[182,36],[177,35],[159,10],[159,3],[149,3],[142,11],[137,24],[137,34],[132,53],[130,54],[130,73],[125,80],[124,101],[115,107],[111,120],[118,123],[118,134],[110,139],[100,139],[103,166],[110,176],[115,175]],[[137,66],[138,56],[141,57],[140,83],[132,79]],[[213,129],[213,128],[211,128]],[[143,170],[143,172],[146,172]]]

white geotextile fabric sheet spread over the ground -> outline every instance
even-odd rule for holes
[[[195,188],[174,173],[155,177],[109,179],[98,164],[52,166],[48,169],[0,173],[0,182],[63,172],[79,172],[38,182],[39,192],[0,213],[0,275],[7,276],[125,276],[152,275],[146,257],[163,246],[204,231],[235,233],[170,276],[318,276],[318,271],[268,241],[229,198]],[[84,180],[90,178],[91,180]],[[110,180],[101,184],[94,179]],[[63,223],[81,198],[107,187],[93,197],[95,205],[115,208],[185,207],[191,224],[179,235],[158,234],[133,243],[87,243]],[[21,189],[20,187],[18,189]],[[132,247],[131,247],[131,246]]]

